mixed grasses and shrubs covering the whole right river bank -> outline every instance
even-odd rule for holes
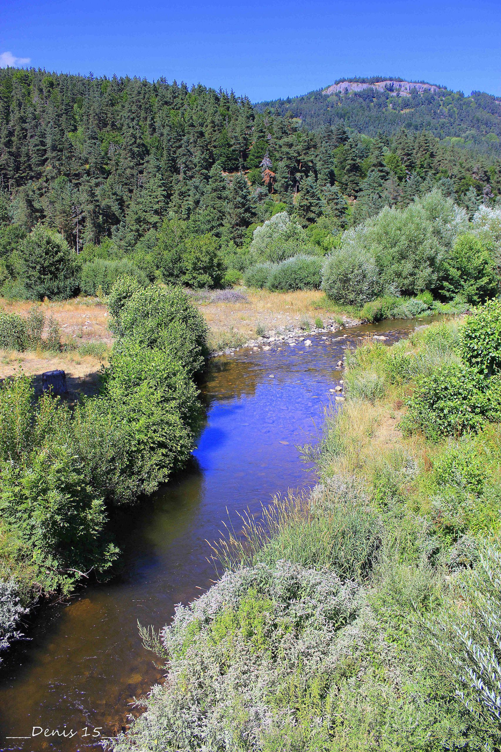
[[[311,496],[214,544],[127,750],[498,750],[501,304],[348,350]],[[221,574],[221,572],[220,572]]]

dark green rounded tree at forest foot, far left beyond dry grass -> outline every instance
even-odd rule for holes
[[[59,235],[38,224],[19,250],[20,281],[29,298],[70,298],[77,290],[74,255]]]

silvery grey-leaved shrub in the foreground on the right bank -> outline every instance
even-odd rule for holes
[[[146,713],[114,749],[261,750],[272,729],[301,723],[301,713],[313,738],[342,660],[336,638],[350,629],[359,598],[357,585],[334,572],[284,561],[227,572],[176,609],[161,633],[165,686],[153,688]]]

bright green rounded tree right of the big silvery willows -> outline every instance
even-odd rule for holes
[[[499,290],[492,253],[472,234],[456,238],[440,274],[440,293],[447,300],[460,296],[466,303],[479,305]]]

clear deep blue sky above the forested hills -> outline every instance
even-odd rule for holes
[[[2,0],[8,62],[163,75],[254,102],[376,74],[501,95],[501,0]]]

